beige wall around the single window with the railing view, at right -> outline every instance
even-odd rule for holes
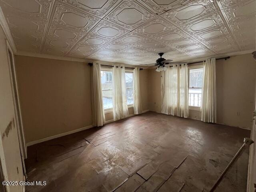
[[[202,64],[202,63],[199,63]],[[256,64],[251,54],[216,60],[217,123],[250,129],[254,109]],[[161,74],[149,72],[149,108],[160,112]],[[190,118],[200,119],[200,112],[189,110]]]

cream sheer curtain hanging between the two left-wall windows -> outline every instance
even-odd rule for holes
[[[113,67],[113,115],[114,121],[128,116],[124,66]]]

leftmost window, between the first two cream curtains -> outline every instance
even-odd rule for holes
[[[102,100],[104,110],[113,108],[113,83],[112,83],[112,70],[102,70],[101,75],[101,88]]]

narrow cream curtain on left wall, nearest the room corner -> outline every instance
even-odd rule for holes
[[[135,67],[133,70],[133,106],[134,114],[142,113],[142,102],[140,96],[140,68]]]

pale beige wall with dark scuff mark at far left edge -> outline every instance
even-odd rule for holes
[[[4,180],[23,181],[22,160],[16,127],[6,39],[0,27],[0,160]],[[8,126],[9,125],[9,126]],[[7,186],[9,192],[22,191],[22,186]]]

